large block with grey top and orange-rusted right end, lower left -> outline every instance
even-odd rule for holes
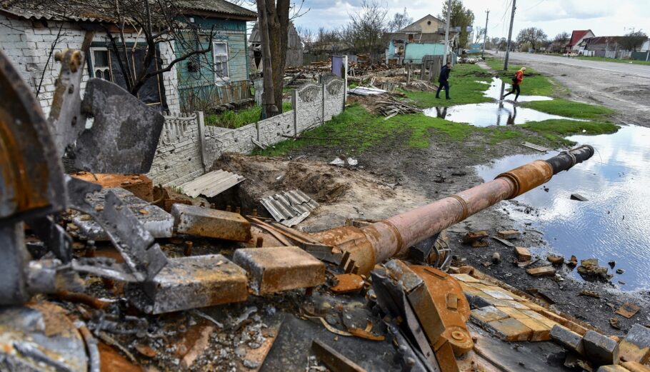
[[[171,259],[144,288],[129,285],[126,293],[137,308],[159,314],[245,301],[247,281],[243,268],[211,254]]]

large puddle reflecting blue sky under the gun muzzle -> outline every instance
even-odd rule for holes
[[[616,261],[612,283],[625,290],[650,288],[650,129],[626,126],[616,134],[571,136],[590,144],[596,154],[573,169],[557,174],[544,187],[516,198],[539,211],[527,214],[514,203],[501,202],[521,229],[534,229],[566,258],[598,258],[601,266]],[[557,154],[507,156],[478,166],[486,181],[516,166]],[[588,201],[571,200],[579,193]],[[529,223],[530,226],[526,226]],[[529,232],[534,233],[534,232]],[[574,271],[574,276],[578,277]],[[619,283],[622,282],[622,283]]]

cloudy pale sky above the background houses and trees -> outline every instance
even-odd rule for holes
[[[443,0],[379,0],[390,14],[406,11],[414,19],[426,14],[438,16]],[[476,16],[475,26],[485,26],[489,9],[488,36],[507,36],[511,0],[463,0]],[[296,26],[316,31],[345,24],[348,14],[358,9],[361,0],[305,0],[310,10],[295,20]],[[539,27],[549,37],[574,29],[591,29],[596,36],[622,35],[632,27],[650,34],[649,0],[516,0],[513,39],[520,29]],[[453,26],[453,25],[452,25]]]

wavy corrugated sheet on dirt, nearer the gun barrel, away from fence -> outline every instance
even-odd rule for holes
[[[319,203],[300,190],[282,191],[262,198],[260,202],[276,221],[289,227],[303,221],[319,206]]]

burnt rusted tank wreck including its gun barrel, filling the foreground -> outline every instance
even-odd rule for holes
[[[60,59],[45,119],[0,53],[3,371],[647,371],[648,328],[606,336],[451,266],[439,238],[591,146],[384,221],[304,233],[154,190],[141,174],[161,114],[99,79],[81,99],[84,54]],[[87,173],[66,174],[64,156]],[[290,191],[269,205],[293,218],[311,202]]]

